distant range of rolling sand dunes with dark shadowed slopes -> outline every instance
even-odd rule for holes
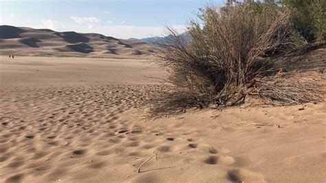
[[[153,49],[140,41],[116,39],[96,33],[55,32],[47,29],[0,25],[1,54],[134,56],[150,55]]]

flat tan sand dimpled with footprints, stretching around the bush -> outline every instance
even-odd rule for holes
[[[326,102],[145,120],[162,89],[149,77],[164,76],[135,59],[0,56],[0,182],[326,181]]]

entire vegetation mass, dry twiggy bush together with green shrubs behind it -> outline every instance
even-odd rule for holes
[[[158,56],[171,87],[151,98],[150,114],[241,105],[249,96],[272,105],[322,100],[325,61],[307,69],[298,60],[325,47],[325,4],[300,2],[229,1],[199,9],[187,39],[168,28],[171,40],[159,43]],[[307,10],[309,18],[297,17]]]

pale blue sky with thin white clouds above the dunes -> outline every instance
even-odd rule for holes
[[[198,8],[223,0],[0,0],[0,25],[94,32],[120,39],[184,32]]]

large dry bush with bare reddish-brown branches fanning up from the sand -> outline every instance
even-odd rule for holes
[[[309,95],[317,85],[287,85],[286,74],[278,74],[286,62],[278,58],[298,42],[288,12],[276,6],[261,12],[250,6],[223,10],[206,6],[199,17],[204,27],[191,21],[190,40],[169,28],[172,39],[160,45],[160,65],[171,72],[167,81],[175,88],[153,98],[152,114],[210,104],[239,105],[250,94],[281,105],[320,99]]]

